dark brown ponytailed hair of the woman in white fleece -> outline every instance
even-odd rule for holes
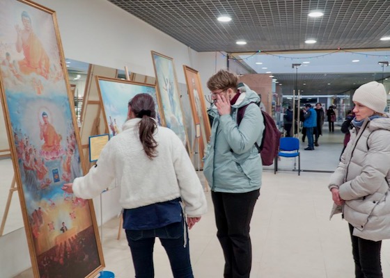
[[[153,137],[153,133],[157,129],[157,122],[153,119],[156,117],[155,101],[148,94],[139,94],[129,101],[132,113],[136,117],[141,118],[139,122],[139,140],[143,145],[148,158],[151,160],[157,156],[157,141]]]

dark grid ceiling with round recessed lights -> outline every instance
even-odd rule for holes
[[[390,1],[109,0],[196,51],[389,47]],[[308,14],[321,10],[323,17]],[[229,15],[231,22],[217,21]],[[316,44],[304,40],[315,39]],[[239,46],[236,40],[246,40]]]

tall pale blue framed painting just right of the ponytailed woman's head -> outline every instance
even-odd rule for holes
[[[166,127],[172,129],[182,140],[183,145],[190,150],[173,58],[155,51],[152,51],[152,57],[162,107],[161,113],[164,115]]]

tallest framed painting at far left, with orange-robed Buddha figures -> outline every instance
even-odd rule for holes
[[[53,10],[0,1],[0,89],[34,277],[95,277],[93,203],[61,189],[86,169]]]

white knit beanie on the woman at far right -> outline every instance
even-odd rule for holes
[[[359,102],[375,112],[382,113],[387,106],[387,94],[384,90],[384,85],[377,83],[377,81],[371,81],[361,85],[354,92],[352,101]]]

